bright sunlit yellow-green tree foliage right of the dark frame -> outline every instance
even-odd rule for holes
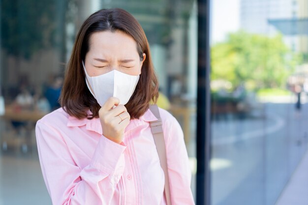
[[[267,37],[244,31],[229,34],[226,42],[214,45],[211,58],[212,80],[229,81],[233,88],[247,83],[248,89],[282,87],[301,61],[281,35]]]

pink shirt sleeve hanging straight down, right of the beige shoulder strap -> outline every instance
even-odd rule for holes
[[[166,122],[164,127],[171,203],[172,205],[194,205],[184,134],[179,122],[176,118],[172,118],[173,120]]]

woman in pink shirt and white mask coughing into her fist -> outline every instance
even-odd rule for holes
[[[36,139],[54,205],[164,205],[164,173],[150,121],[158,83],[145,33],[122,9],[82,25],[69,60],[62,108],[40,119]],[[193,205],[177,120],[159,109],[173,205]]]

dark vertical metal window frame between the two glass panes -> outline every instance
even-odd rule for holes
[[[198,4],[196,204],[211,205],[210,0]]]

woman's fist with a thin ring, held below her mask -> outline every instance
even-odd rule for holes
[[[118,144],[123,141],[124,130],[130,121],[125,106],[119,105],[119,103],[118,98],[111,97],[98,112],[103,135]],[[113,108],[114,106],[117,107]]]

